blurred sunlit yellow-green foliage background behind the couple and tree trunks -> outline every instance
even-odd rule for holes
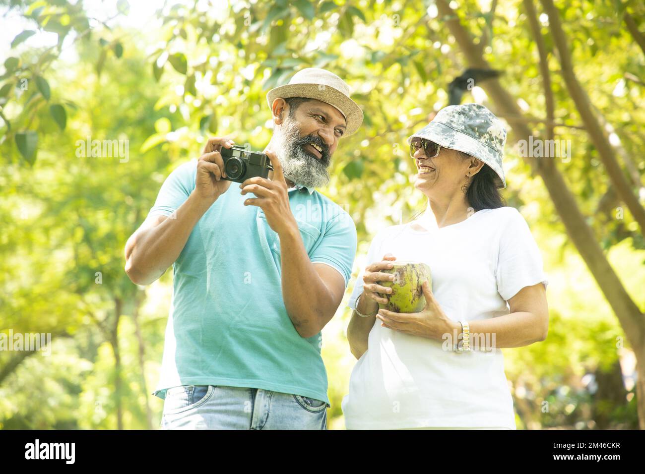
[[[450,6],[522,112],[537,117],[531,126],[544,130],[524,3]],[[645,10],[619,1],[557,7],[577,79],[642,204],[645,53],[622,15],[629,12],[642,31]],[[629,212],[617,212],[620,202],[559,75],[548,17],[536,8],[550,53],[557,139],[571,141],[571,159],[556,166],[642,312],[642,229]],[[263,148],[271,135],[267,90],[317,66],[346,79],[365,113],[362,130],[341,141],[332,181],[321,190],[351,213],[359,233],[348,294],[323,331],[329,427],[342,429],[341,400],[355,364],[344,335],[346,299],[375,232],[426,205],[413,188],[405,139],[448,103],[448,84],[466,68],[437,5],[5,0],[0,15],[0,331],[52,333],[49,356],[0,351],[0,428],[159,426],[163,400],[150,392],[172,276],[146,288],[132,284],[123,270],[126,239],[168,173],[199,156],[205,137],[231,134]],[[466,101],[499,113],[479,86]],[[77,141],[86,137],[126,140],[128,160],[79,157]],[[504,350],[518,428],[637,428],[635,353],[512,132],[504,166],[504,197],[529,222],[550,281],[548,339]]]

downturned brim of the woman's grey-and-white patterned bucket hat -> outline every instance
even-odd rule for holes
[[[466,133],[459,132],[445,124],[439,122],[430,122],[425,126],[422,132],[415,133],[408,137],[408,144],[415,138],[424,138],[440,144],[444,148],[458,150],[459,152],[468,153],[473,157],[488,164],[495,172],[495,186],[497,188],[506,188],[506,179],[504,179],[504,170],[502,170],[502,156],[490,146],[481,143]]]

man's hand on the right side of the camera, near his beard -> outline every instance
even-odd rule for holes
[[[289,204],[289,193],[286,180],[284,179],[282,164],[275,153],[265,150],[264,153],[271,160],[273,166],[273,177],[271,180],[255,176],[240,184],[241,194],[253,193],[257,197],[251,197],[244,201],[244,206],[258,206],[266,215],[266,222],[278,235],[285,232],[297,230],[298,224],[291,212]]]

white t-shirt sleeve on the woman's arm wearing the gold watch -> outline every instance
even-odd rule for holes
[[[543,283],[546,289],[548,285],[540,249],[524,217],[516,209],[513,211],[501,233],[495,268],[497,291],[504,301],[525,286]]]

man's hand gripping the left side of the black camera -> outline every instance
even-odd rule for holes
[[[232,181],[222,179],[226,177],[224,172],[224,160],[219,153],[222,147],[231,148],[233,140],[228,137],[213,137],[208,139],[204,152],[197,161],[197,175],[195,175],[195,193],[204,201],[210,204],[228,190]]]

